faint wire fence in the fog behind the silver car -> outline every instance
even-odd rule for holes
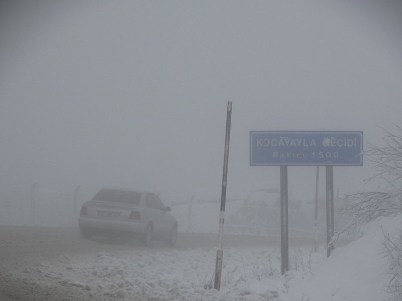
[[[76,186],[69,190],[55,190],[34,183],[24,192],[2,195],[0,225],[78,226],[79,210],[101,187]],[[280,215],[273,200],[228,199],[225,232],[249,235],[279,235]],[[171,202],[179,232],[217,233],[219,229],[218,199],[197,199]],[[310,212],[311,211],[311,212]],[[324,212],[321,212],[322,216]],[[325,219],[320,217],[320,235],[325,233]],[[307,212],[289,209],[289,234],[312,236],[313,209]]]

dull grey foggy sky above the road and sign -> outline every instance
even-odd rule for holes
[[[380,143],[401,121],[401,14],[396,1],[0,1],[0,188],[219,198],[227,101],[228,192],[279,185],[278,167],[249,167],[250,130]],[[374,190],[371,173],[335,167],[334,185]],[[314,167],[288,174],[314,197]]]

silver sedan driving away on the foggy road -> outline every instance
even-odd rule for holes
[[[177,221],[154,193],[143,190],[102,189],[80,210],[78,225],[81,234],[111,233],[140,237],[145,245],[163,239],[174,245]]]

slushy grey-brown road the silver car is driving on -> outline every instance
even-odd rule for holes
[[[253,246],[277,247],[280,237],[247,235],[224,235],[224,248],[246,248]],[[289,238],[289,244],[311,244],[311,239]],[[33,261],[40,262],[60,255],[96,254],[99,252],[127,254],[134,251],[161,252],[169,250],[213,249],[218,244],[217,234],[179,233],[176,246],[155,242],[145,247],[139,241],[118,238],[94,237],[84,239],[78,228],[0,226],[0,301],[43,301],[63,298],[62,291],[44,292],[38,283],[26,283],[13,275],[12,267],[24,267]],[[42,289],[42,292],[40,290]],[[55,288],[56,289],[56,288]],[[30,291],[35,291],[33,294]],[[39,291],[39,293],[38,293]]]

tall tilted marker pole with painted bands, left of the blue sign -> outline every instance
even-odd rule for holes
[[[221,272],[222,272],[222,257],[223,257],[222,236],[223,236],[223,225],[225,223],[226,183],[228,179],[231,119],[232,119],[232,101],[228,101],[228,110],[226,115],[225,154],[224,154],[223,177],[222,177],[221,214],[219,217],[219,240],[218,240],[217,261],[215,266],[215,283],[214,283],[214,288],[218,290],[221,288]]]

